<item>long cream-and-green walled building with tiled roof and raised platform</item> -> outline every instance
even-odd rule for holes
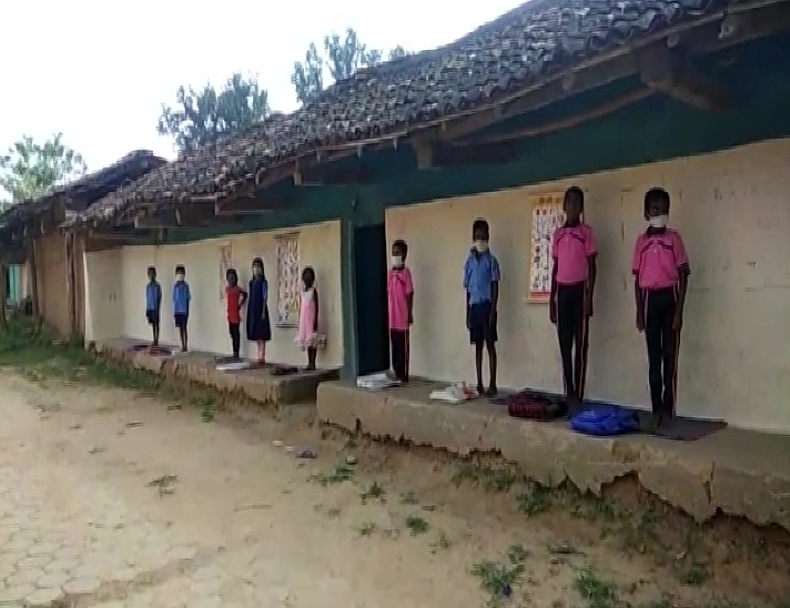
[[[636,474],[700,519],[723,510],[790,529],[790,478],[770,465],[790,463],[788,26],[781,1],[612,0],[575,10],[536,0],[446,47],[362,70],[69,217],[60,230],[91,242],[84,336],[115,347],[150,340],[144,288],[154,265],[162,341],[175,345],[170,286],[183,264],[191,347],[229,354],[225,271],[237,268],[245,284],[260,256],[267,359],[302,364],[298,278],[310,265],[326,335],[318,366],[341,373],[318,386],[323,420],[459,454],[499,452],[538,479],[592,492]],[[408,242],[415,281],[411,374],[445,385],[474,378],[462,268],[472,223],[485,217],[503,273],[499,385],[561,389],[545,240],[569,185],[585,191],[599,249],[588,396],[644,408],[631,252],[645,192],[662,186],[672,197],[670,223],[691,261],[678,414],[733,427],[693,453],[655,438],[592,442],[483,402],[435,405],[428,383],[371,393],[353,382],[389,363],[395,239]]]

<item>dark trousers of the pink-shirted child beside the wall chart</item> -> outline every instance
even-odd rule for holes
[[[586,283],[557,285],[557,337],[565,394],[577,399],[584,398],[587,379],[589,318],[586,297]]]

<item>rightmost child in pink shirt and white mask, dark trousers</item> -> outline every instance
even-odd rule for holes
[[[634,245],[634,298],[637,330],[647,342],[652,414],[660,426],[675,415],[680,328],[691,271],[680,233],[667,227],[666,190],[654,188],[645,194],[645,220],[648,229]]]

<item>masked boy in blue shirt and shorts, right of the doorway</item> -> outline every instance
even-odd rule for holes
[[[466,328],[469,341],[475,345],[475,367],[477,369],[477,392],[483,394],[483,347],[488,351],[490,383],[487,395],[494,396],[496,387],[496,341],[499,301],[499,262],[488,250],[488,222],[475,220],[472,224],[474,245],[464,264],[464,290],[466,291]]]

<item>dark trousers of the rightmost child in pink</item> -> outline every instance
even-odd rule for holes
[[[644,301],[652,412],[672,416],[678,387],[678,347],[680,346],[680,332],[672,330],[672,321],[678,307],[677,288],[648,291],[644,294]]]

